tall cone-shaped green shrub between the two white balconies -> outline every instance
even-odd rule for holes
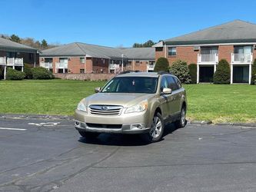
[[[214,73],[214,84],[230,84],[230,74],[228,61],[221,59]]]

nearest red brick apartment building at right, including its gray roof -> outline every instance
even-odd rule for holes
[[[197,82],[212,82],[218,61],[231,66],[232,83],[251,83],[251,64],[256,58],[256,25],[241,20],[224,23],[154,45],[155,60],[181,59],[198,65]]]

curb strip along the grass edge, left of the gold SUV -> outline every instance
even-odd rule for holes
[[[47,114],[0,114],[0,118],[32,118],[32,119],[65,119],[74,120],[71,115],[47,115]]]

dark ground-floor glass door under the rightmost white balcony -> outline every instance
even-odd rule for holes
[[[233,83],[248,83],[248,82],[249,82],[249,66],[233,65]]]

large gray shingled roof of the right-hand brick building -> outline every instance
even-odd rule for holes
[[[256,42],[256,25],[234,20],[187,35],[165,40],[166,45],[201,45],[214,43]]]

